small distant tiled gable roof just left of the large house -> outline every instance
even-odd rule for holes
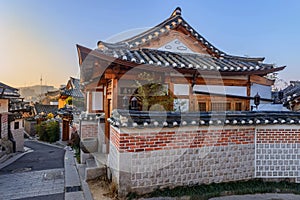
[[[61,89],[60,94],[64,96],[72,96],[76,98],[84,98],[80,90],[80,80],[70,77],[67,86]]]

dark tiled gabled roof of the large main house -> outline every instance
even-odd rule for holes
[[[181,29],[183,28],[186,32],[185,34],[189,34],[199,46],[204,46],[208,54],[174,53],[143,47],[145,44],[157,40],[172,30],[177,31],[179,26]],[[221,72],[223,74],[242,73],[266,75],[285,68],[276,68],[273,64],[262,63],[264,60],[263,57],[248,58],[224,53],[208,42],[182,18],[180,8],[176,8],[168,19],[154,28],[117,43],[99,41],[98,47],[98,49],[92,51],[77,45],[80,65],[89,53],[93,53],[96,57],[104,56],[105,59],[109,61],[122,61],[126,62],[127,65],[158,66],[160,69],[184,69],[191,73],[198,70],[201,72]]]

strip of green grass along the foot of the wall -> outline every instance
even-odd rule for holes
[[[182,197],[190,196],[191,200],[207,200],[212,197],[256,194],[256,193],[294,193],[300,194],[300,184],[288,181],[266,182],[261,179],[228,183],[212,183],[209,185],[181,186],[174,189],[157,189],[146,195],[128,194],[128,199],[150,197]]]

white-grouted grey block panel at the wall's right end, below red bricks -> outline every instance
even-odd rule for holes
[[[293,178],[300,173],[300,144],[256,144],[255,176]]]

